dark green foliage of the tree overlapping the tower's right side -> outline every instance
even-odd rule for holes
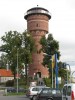
[[[59,42],[53,38],[52,34],[49,34],[47,38],[43,36],[40,43],[42,45],[41,50],[44,52],[43,65],[50,67],[52,55],[57,53],[58,59],[60,57]]]

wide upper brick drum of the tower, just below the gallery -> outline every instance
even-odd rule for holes
[[[31,15],[27,18],[28,30],[44,30],[48,32],[48,17],[45,15]]]

